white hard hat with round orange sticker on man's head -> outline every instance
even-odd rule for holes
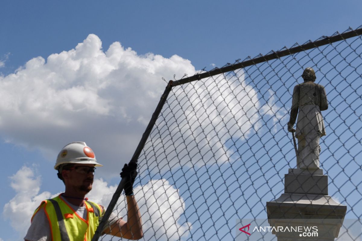
[[[66,163],[94,164],[96,167],[102,166],[97,162],[92,149],[83,141],[72,142],[64,146],[56,158],[54,169],[58,170],[60,165]]]

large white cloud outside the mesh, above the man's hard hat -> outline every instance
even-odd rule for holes
[[[162,78],[185,73],[195,69],[180,56],[141,56],[119,42],[103,51],[90,34],[72,50],[0,76],[1,136],[42,150],[51,162],[67,143],[86,141],[104,172],[115,175],[110,164],[131,158],[167,85]]]

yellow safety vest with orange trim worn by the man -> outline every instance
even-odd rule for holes
[[[60,194],[62,195],[62,194]],[[90,241],[99,223],[102,208],[94,202],[85,202],[87,219],[80,217],[61,196],[45,200],[34,215],[44,208],[49,220],[52,241]],[[31,220],[33,220],[33,217]]]

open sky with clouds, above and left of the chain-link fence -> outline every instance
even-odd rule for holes
[[[52,167],[58,151],[71,141],[86,141],[108,166],[97,177],[107,187],[118,184],[119,170],[131,158],[165,87],[162,77],[176,74],[179,79],[357,28],[361,8],[359,1],[1,2],[0,96],[5,104],[0,112],[0,206],[20,198],[19,192],[26,197],[32,195],[29,191],[35,196],[62,191]],[[102,51],[108,51],[107,58],[94,60],[94,53]],[[83,62],[62,66],[72,56]],[[74,66],[80,70],[73,73]],[[100,83],[108,68],[115,71]],[[54,92],[58,98],[49,97]],[[142,185],[149,181],[146,177]],[[14,188],[19,183],[28,189]],[[35,203],[33,198],[31,205]],[[7,210],[1,212],[0,238],[21,240],[23,233],[11,220],[22,216]],[[10,219],[11,214],[17,218]]]

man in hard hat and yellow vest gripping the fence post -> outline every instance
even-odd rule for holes
[[[85,142],[72,142],[59,152],[55,169],[65,184],[64,193],[45,200],[35,210],[26,241],[90,241],[105,213],[105,208],[88,201],[95,167],[101,167]],[[111,215],[102,233],[131,240],[142,238],[141,215],[133,195],[137,164],[125,164],[121,176],[127,177],[127,222]]]

